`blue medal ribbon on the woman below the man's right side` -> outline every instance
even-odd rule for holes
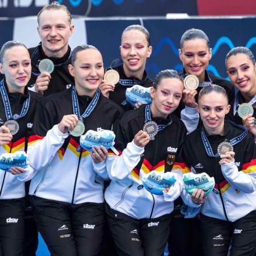
[[[74,114],[77,115],[79,120],[81,119],[81,117],[86,118],[91,114],[91,111],[93,111],[94,107],[97,105],[100,94],[101,94],[101,90],[99,90],[99,87],[98,87],[97,91],[96,91],[96,93],[93,97],[93,100],[90,102],[89,106],[85,110],[85,113],[80,115],[79,106],[78,106],[77,92],[75,91],[75,86],[72,87],[73,111],[74,111]]]

